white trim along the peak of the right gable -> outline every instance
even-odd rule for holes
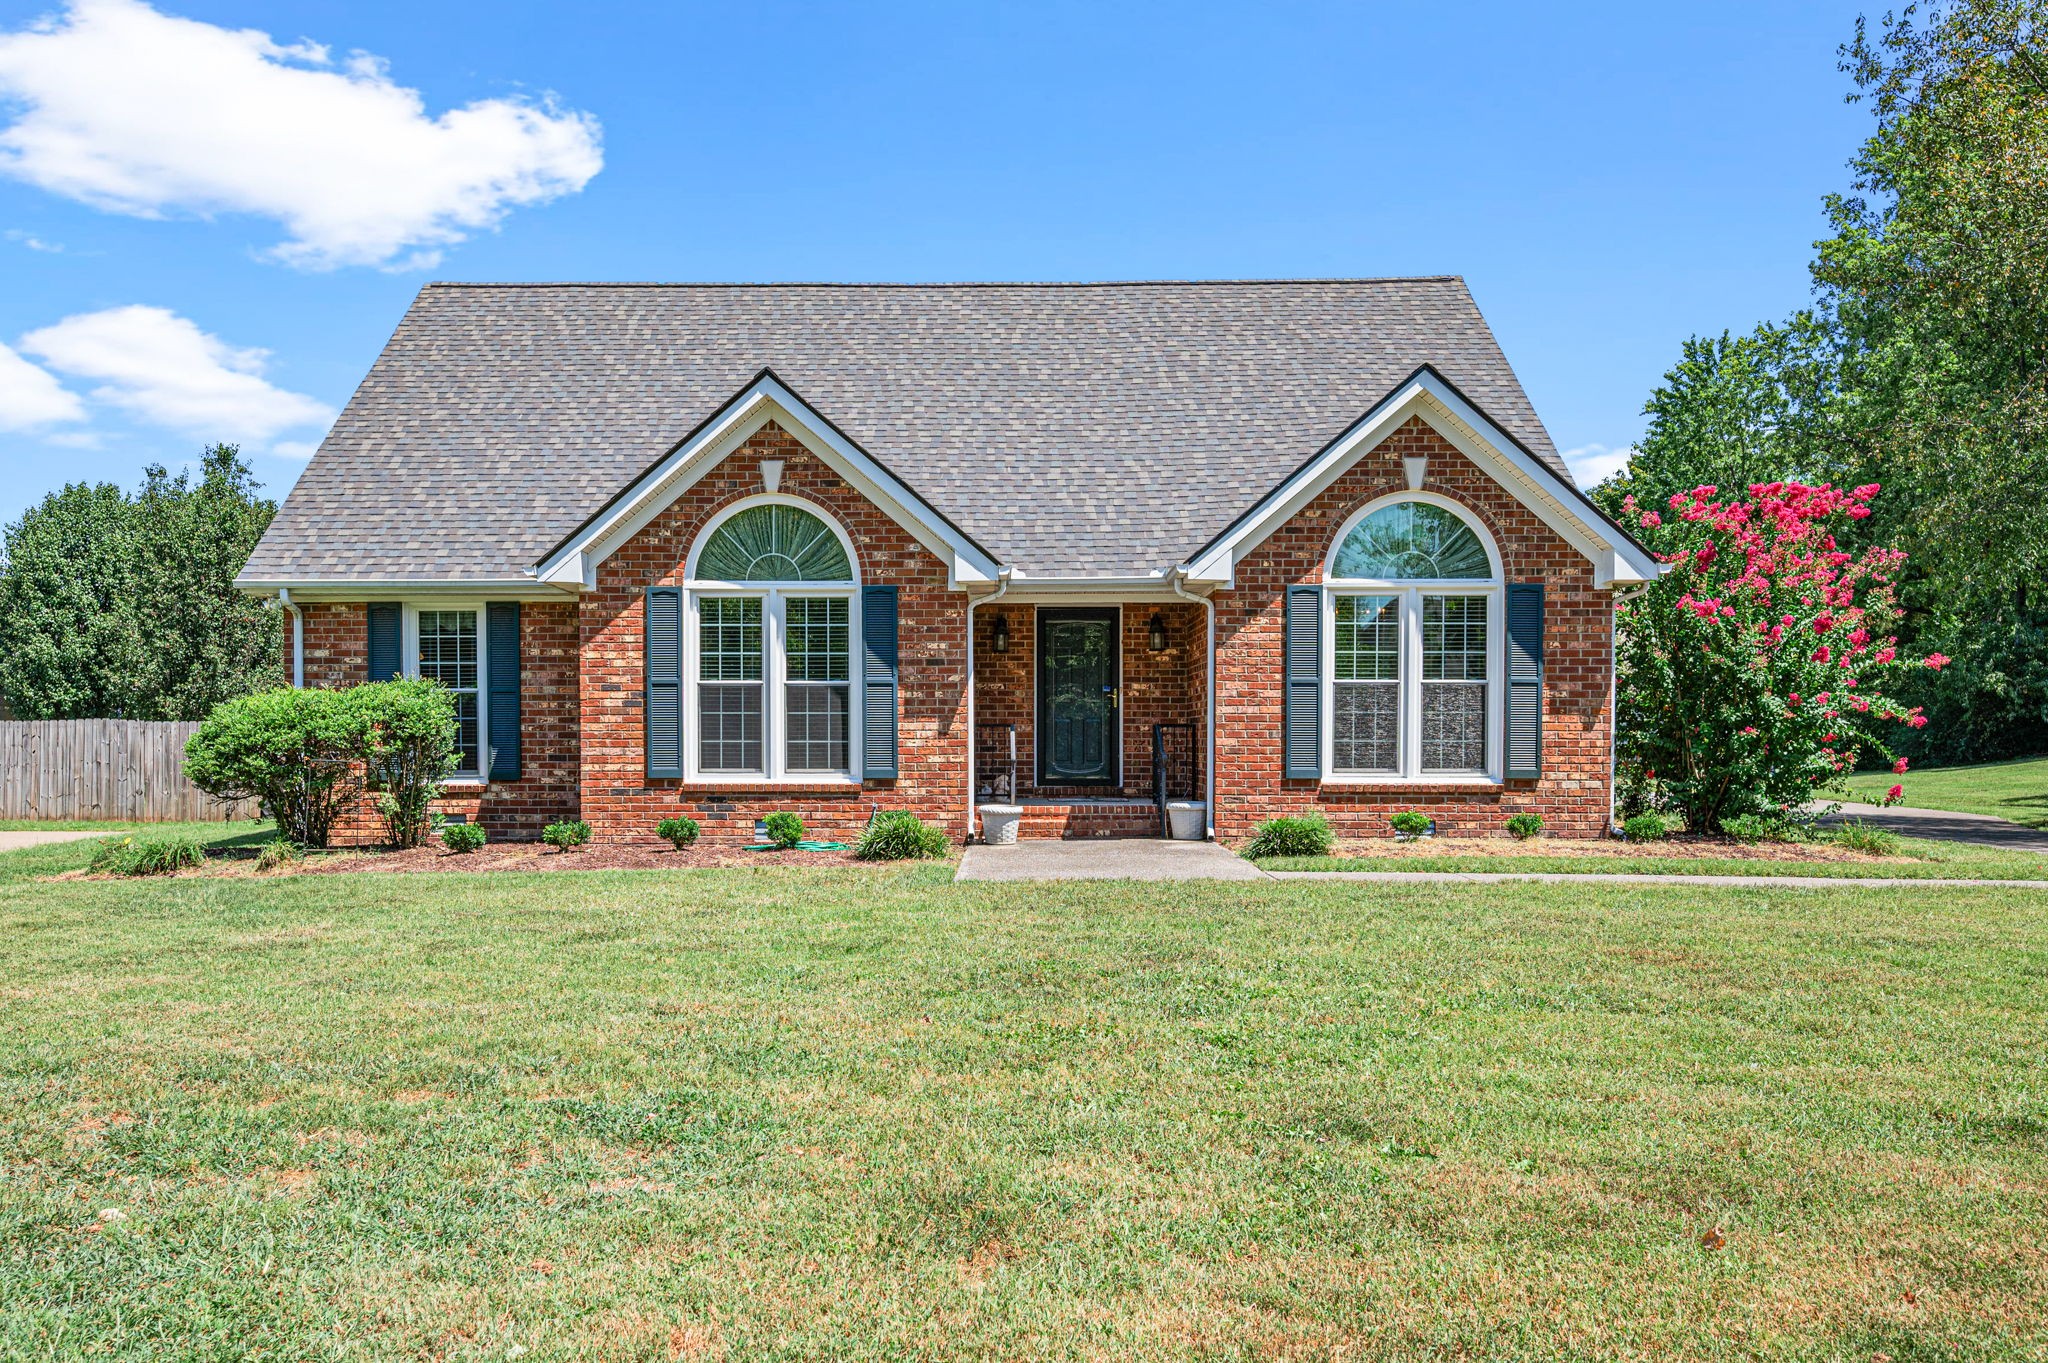
[[[1360,456],[1380,440],[1419,415],[1460,454],[1485,469],[1522,505],[1530,508],[1567,544],[1593,565],[1595,587],[1628,587],[1657,581],[1663,565],[1640,544],[1616,534],[1610,524],[1563,479],[1524,450],[1499,426],[1444,383],[1436,370],[1421,370],[1391,397],[1368,411],[1352,430],[1333,440],[1311,463],[1296,469],[1280,487],[1266,495],[1249,516],[1214,544],[1202,548],[1186,565],[1190,583],[1229,587],[1237,565],[1266,542],[1280,526],[1300,514],[1323,489],[1335,483]]]

